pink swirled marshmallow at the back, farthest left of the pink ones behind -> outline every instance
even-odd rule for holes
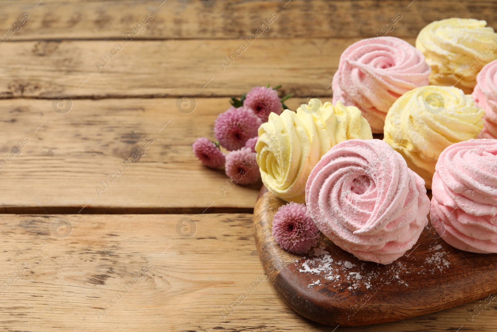
[[[381,133],[392,104],[406,92],[428,85],[430,72],[423,54],[402,39],[363,39],[340,56],[333,77],[333,104],[342,101],[357,107],[372,132]]]

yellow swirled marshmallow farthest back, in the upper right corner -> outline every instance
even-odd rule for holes
[[[416,48],[431,66],[430,84],[473,92],[478,72],[497,59],[497,33],[486,25],[472,18],[447,18],[421,29]]]

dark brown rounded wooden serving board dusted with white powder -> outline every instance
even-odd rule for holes
[[[262,187],[254,208],[255,243],[277,292],[312,321],[371,325],[496,298],[497,255],[458,250],[431,224],[413,249],[389,265],[361,261],[323,234],[307,256],[287,253],[271,235],[273,216],[284,204]]]

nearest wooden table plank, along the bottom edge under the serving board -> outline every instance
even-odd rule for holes
[[[176,232],[182,218],[195,222],[191,238]],[[264,280],[251,218],[0,215],[8,235],[0,242],[0,327],[33,332],[476,332],[497,327],[496,301],[485,304],[485,299],[361,328],[308,321]],[[54,223],[64,226],[61,221],[72,226],[67,237],[69,228],[52,231]]]

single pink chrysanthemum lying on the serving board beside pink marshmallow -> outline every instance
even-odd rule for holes
[[[305,204],[291,202],[274,215],[272,232],[283,250],[303,254],[316,246],[319,229]]]

